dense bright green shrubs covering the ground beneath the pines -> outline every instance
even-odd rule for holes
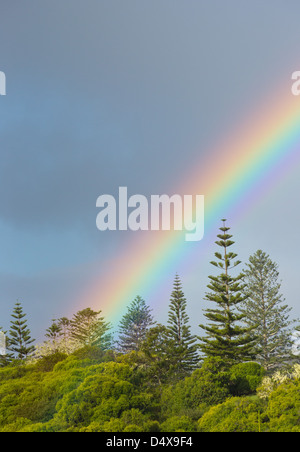
[[[0,369],[0,431],[300,431],[298,368],[277,379],[261,398],[255,391],[264,374],[261,366],[228,369],[222,359],[209,358],[190,376],[157,392],[136,367],[139,353],[123,355],[124,362],[105,361],[109,353],[58,354],[50,361]]]

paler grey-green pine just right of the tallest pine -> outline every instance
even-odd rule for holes
[[[246,264],[247,300],[242,305],[244,322],[257,337],[256,361],[267,371],[291,360],[292,333],[288,328],[289,308],[284,304],[278,282],[278,266],[269,255],[258,250]]]

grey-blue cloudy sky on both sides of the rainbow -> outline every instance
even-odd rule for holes
[[[100,194],[167,191],[271,85],[290,93],[299,17],[292,0],[0,0],[0,326],[19,300],[42,337],[117,258],[128,236],[96,229]],[[299,186],[295,169],[232,225],[243,261],[279,264],[295,317]]]

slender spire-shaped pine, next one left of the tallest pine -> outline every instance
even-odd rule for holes
[[[174,376],[177,375],[178,378],[196,369],[199,363],[198,347],[195,344],[197,338],[191,334],[186,306],[181,281],[176,275],[169,306],[166,338],[170,348],[170,359],[173,361]]]

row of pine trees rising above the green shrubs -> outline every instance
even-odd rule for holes
[[[72,319],[53,320],[46,331],[46,341],[34,346],[26,314],[16,303],[11,328],[6,334],[7,355],[2,365],[14,359],[23,361],[48,354],[72,353],[85,346],[98,347],[116,353],[147,350],[167,357],[173,375],[178,378],[199,367],[203,358],[219,357],[228,365],[255,361],[266,371],[297,361],[297,341],[300,331],[296,320],[290,320],[291,308],[280,293],[278,266],[263,251],[250,256],[244,270],[234,274],[241,264],[230,251],[234,244],[226,220],[216,244],[220,251],[211,264],[219,274],[209,276],[209,291],[205,295],[209,307],[204,311],[207,324],[199,325],[203,336],[191,334],[187,315],[187,300],[178,275],[171,294],[167,325],[157,324],[146,302],[137,296],[127,308],[118,326],[118,337],[111,334],[112,325],[101,311],[85,308]],[[199,308],[201,301],[199,301]]]

